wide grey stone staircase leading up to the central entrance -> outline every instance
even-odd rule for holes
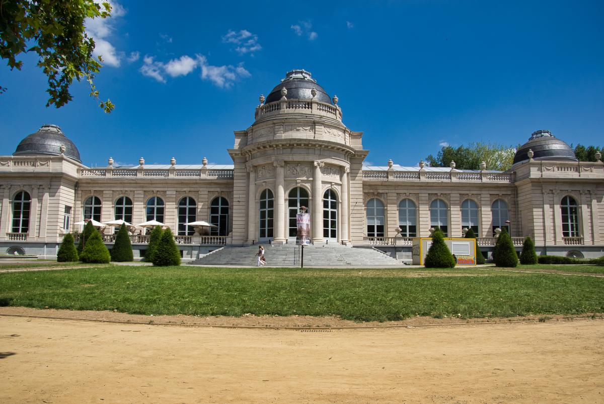
[[[265,247],[265,258],[271,267],[299,267],[300,247],[292,244]],[[211,252],[192,265],[245,265],[256,266],[258,246],[226,246]],[[304,266],[402,266],[402,261],[371,247],[345,247],[340,244],[304,247]]]

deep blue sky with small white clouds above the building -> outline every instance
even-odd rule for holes
[[[536,129],[604,144],[602,1],[192,3],[114,1],[113,18],[88,25],[111,114],[86,83],[46,108],[33,55],[0,67],[0,154],[54,123],[88,166],[231,164],[233,131],[294,68],[337,94],[373,165],[417,165],[444,144],[515,146]]]

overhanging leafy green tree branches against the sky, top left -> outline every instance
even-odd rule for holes
[[[19,55],[37,54],[37,65],[48,77],[46,106],[60,108],[71,101],[69,86],[74,79],[85,79],[91,97],[111,112],[114,104],[101,101],[94,86],[102,60],[92,56],[94,40],[84,25],[87,18],[107,18],[110,13],[108,2],[94,0],[0,0],[0,57],[8,60],[11,70],[21,70]],[[0,93],[5,90],[0,87]]]

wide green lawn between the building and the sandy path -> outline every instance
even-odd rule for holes
[[[3,273],[0,299],[14,306],[139,314],[506,317],[601,313],[604,278],[478,269],[108,266]]]

